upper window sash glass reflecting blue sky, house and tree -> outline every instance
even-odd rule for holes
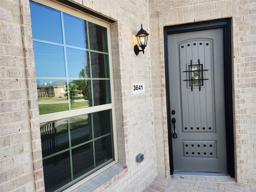
[[[40,114],[109,104],[106,28],[34,2],[31,10]],[[56,44],[56,40],[46,38],[46,33],[41,34],[36,13],[48,12],[52,20],[59,16],[58,29],[52,31],[58,36],[65,34],[63,42]],[[43,26],[51,27],[44,22]],[[88,42],[90,46],[86,46]]]

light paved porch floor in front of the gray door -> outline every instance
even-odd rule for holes
[[[144,192],[256,192],[256,184],[237,184],[228,176],[174,175],[156,178]]]

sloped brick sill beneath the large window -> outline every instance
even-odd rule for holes
[[[127,173],[128,167],[121,164],[116,163],[110,168],[107,168],[94,178],[88,180],[84,184],[78,186],[72,192],[101,192],[106,190],[106,188],[110,187],[116,181],[118,181],[122,176]]]

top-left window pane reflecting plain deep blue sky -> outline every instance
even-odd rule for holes
[[[30,14],[33,38],[63,43],[59,11],[30,2]]]

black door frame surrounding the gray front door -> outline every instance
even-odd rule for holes
[[[224,18],[203,22],[194,22],[164,27],[164,60],[166,76],[166,102],[167,102],[167,122],[169,140],[170,174],[174,173],[173,153],[172,153],[172,133],[171,133],[171,110],[170,110],[170,88],[169,88],[169,61],[168,61],[168,38],[169,34],[223,28],[224,39],[224,92],[225,92],[225,116],[226,116],[226,146],[227,146],[227,173],[230,177],[235,177],[234,166],[234,130],[233,130],[233,104],[232,104],[232,56],[231,56],[231,20]]]

